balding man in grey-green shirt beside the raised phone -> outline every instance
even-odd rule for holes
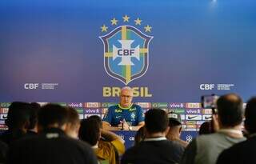
[[[223,95],[218,98],[217,108],[219,130],[190,142],[182,164],[215,164],[222,150],[246,139],[242,135],[242,99],[237,94]]]

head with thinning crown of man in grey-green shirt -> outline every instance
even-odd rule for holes
[[[218,98],[218,118],[222,126],[238,126],[242,122],[242,99],[237,94],[225,94]]]

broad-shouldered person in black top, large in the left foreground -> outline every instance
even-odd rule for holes
[[[38,135],[22,138],[10,146],[8,164],[97,164],[85,142],[68,137],[64,130],[68,110],[59,105],[42,106],[38,112]]]

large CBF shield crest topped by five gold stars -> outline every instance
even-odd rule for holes
[[[113,18],[110,22],[111,27],[117,27],[109,32],[109,27],[104,24],[102,33],[109,33],[99,37],[104,44],[104,67],[107,74],[127,85],[142,77],[148,69],[149,44],[153,37],[143,32],[150,33],[152,27],[142,26],[142,19],[132,20],[128,15],[120,20]]]

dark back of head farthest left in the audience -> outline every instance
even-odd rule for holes
[[[26,102],[12,102],[9,106],[6,126],[10,130],[21,129],[30,122],[30,104]]]

